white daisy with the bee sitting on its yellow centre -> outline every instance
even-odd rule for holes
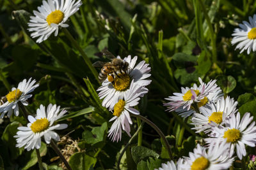
[[[119,56],[117,58],[120,59]],[[120,78],[116,76],[114,80],[115,83],[113,84],[108,80],[102,82],[102,86],[97,89],[97,91],[99,91],[100,99],[104,98],[102,106],[113,108],[118,102],[118,99],[124,99],[125,94],[129,93],[129,90],[131,90],[130,85],[132,80],[134,81],[134,85],[143,87],[141,90],[148,91],[145,86],[149,85],[151,80],[145,80],[145,78],[151,76],[151,74],[149,74],[151,68],[149,67],[149,64],[145,64],[145,60],[135,66],[136,60],[137,56],[133,59],[131,59],[131,55],[125,57],[124,62],[129,63],[127,73],[119,74]]]

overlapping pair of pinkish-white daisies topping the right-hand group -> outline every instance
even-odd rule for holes
[[[173,93],[174,96],[169,96],[165,98],[170,101],[170,103],[164,103],[167,106],[167,111],[176,111],[182,117],[188,117],[195,113],[192,104],[196,103],[198,108],[204,106],[205,104],[217,101],[223,93],[216,85],[217,80],[211,80],[205,84],[202,79],[198,78],[200,86],[196,84],[193,87],[181,87],[181,93]]]

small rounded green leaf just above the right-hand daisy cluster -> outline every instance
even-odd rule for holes
[[[225,94],[232,92],[236,87],[236,80],[232,76],[219,76],[217,85],[221,87]]]

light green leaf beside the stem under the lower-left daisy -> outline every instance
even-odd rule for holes
[[[41,143],[41,147],[39,149],[39,152],[40,152],[41,157],[44,157],[46,155],[47,147],[46,147],[45,143],[43,143],[43,142]],[[22,170],[29,169],[29,167],[34,166],[38,162],[38,159],[37,159],[37,156],[36,156],[36,150],[33,150],[33,152],[31,152],[29,154],[30,154],[29,160],[28,160],[28,162],[26,162],[26,166],[22,167]]]

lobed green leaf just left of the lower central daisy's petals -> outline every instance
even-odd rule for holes
[[[82,134],[84,141],[92,145],[100,141],[103,141],[107,131],[107,127],[108,127],[107,122],[104,122],[104,124],[102,124],[100,127],[93,127],[92,132],[87,130],[84,131]]]

